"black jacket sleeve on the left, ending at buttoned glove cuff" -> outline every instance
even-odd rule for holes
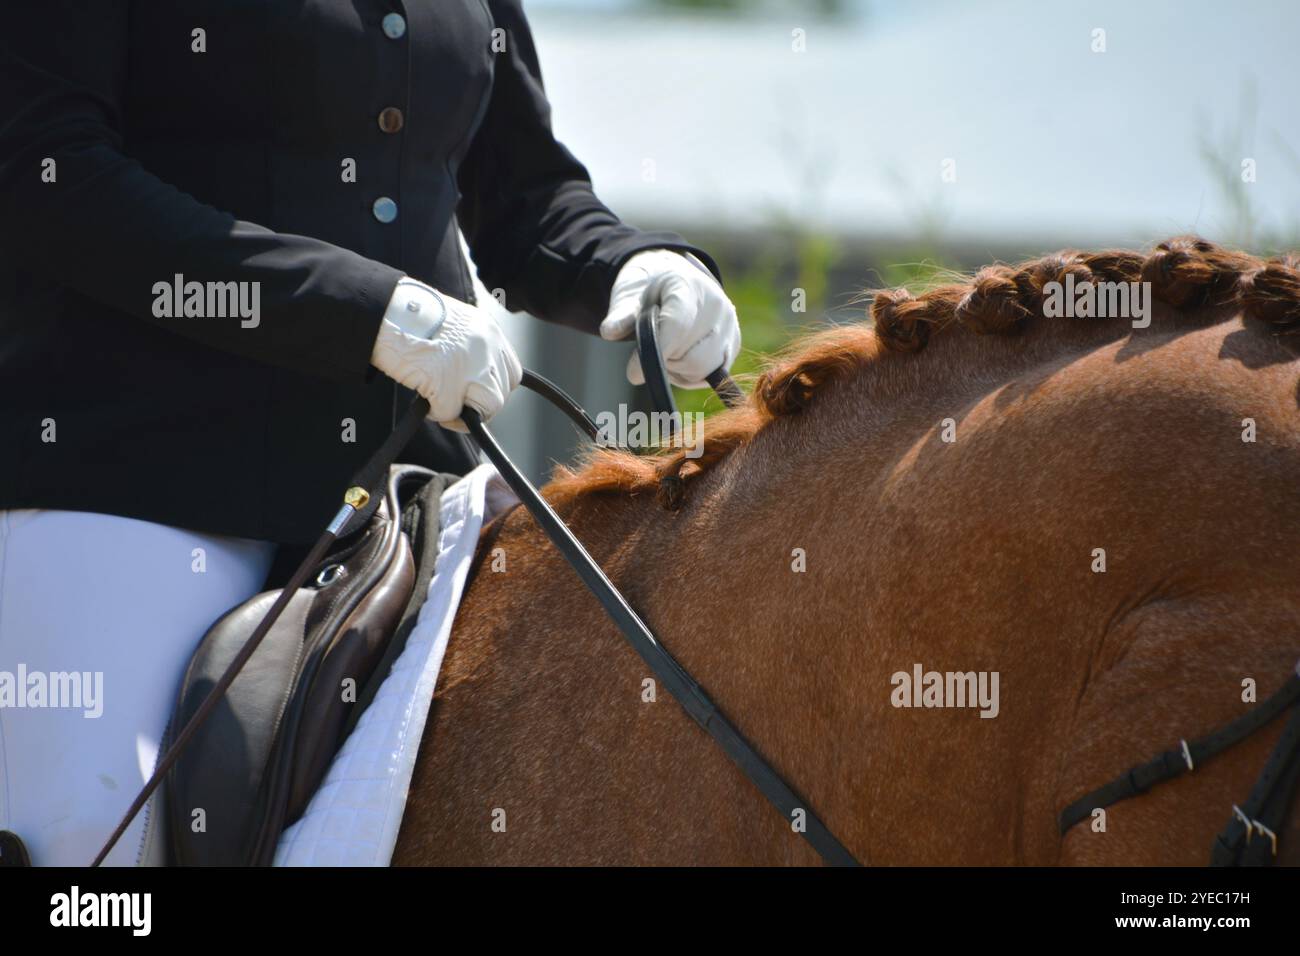
[[[330,243],[240,221],[125,155],[129,7],[127,0],[42,0],[5,9],[4,255],[213,349],[338,381],[364,380],[402,273]],[[155,285],[177,274],[187,282],[256,282],[260,324],[155,316]]]

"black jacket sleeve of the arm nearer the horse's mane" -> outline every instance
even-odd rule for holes
[[[551,131],[550,103],[520,0],[489,0],[506,49],[491,99],[460,164],[458,219],[489,289],[511,311],[595,333],[619,268],[646,248],[708,254],[676,233],[625,225],[597,199],[586,169]]]

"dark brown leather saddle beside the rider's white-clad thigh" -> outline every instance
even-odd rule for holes
[[[166,778],[172,861],[269,865],[347,732],[400,653],[437,557],[438,502],[454,481],[393,466],[352,516]],[[183,727],[278,597],[222,615],[199,643],[172,727]]]

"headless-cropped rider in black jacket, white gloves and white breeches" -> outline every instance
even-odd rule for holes
[[[555,140],[520,1],[5,12],[0,830],[36,864],[94,857],[199,637],[318,535],[402,386],[456,427],[519,385],[462,233],[514,311],[623,339],[653,285],[670,377],[736,358],[712,260]],[[403,459],[474,464],[436,427]]]

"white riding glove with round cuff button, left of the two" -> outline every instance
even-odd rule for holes
[[[464,432],[467,405],[488,421],[524,375],[497,321],[413,278],[398,281],[370,364],[429,399],[429,418]]]

